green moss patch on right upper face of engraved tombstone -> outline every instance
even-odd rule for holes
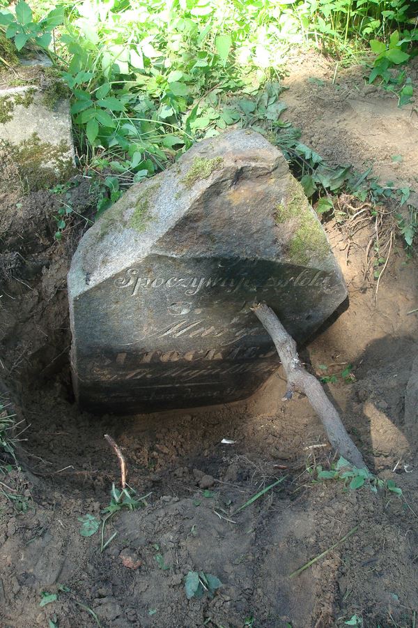
[[[276,223],[294,220],[295,232],[288,242],[288,255],[293,264],[307,264],[312,257],[322,260],[330,253],[327,237],[309,205],[303,188],[289,177],[286,202],[277,205]]]

